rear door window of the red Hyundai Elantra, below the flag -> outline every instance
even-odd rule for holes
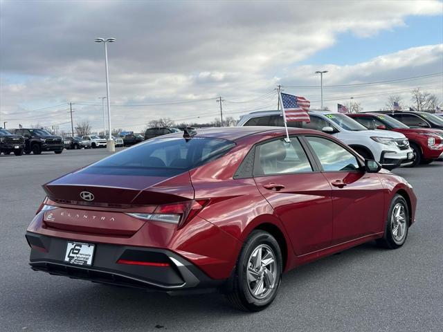
[[[266,142],[258,145],[255,153],[258,154],[254,163],[255,176],[312,172],[298,138],[291,138],[289,143],[284,139]]]

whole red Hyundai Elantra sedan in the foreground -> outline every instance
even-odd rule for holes
[[[246,311],[283,272],[377,240],[399,248],[411,185],[319,131],[185,130],[44,185],[26,232],[30,266],[168,293],[216,288]]]

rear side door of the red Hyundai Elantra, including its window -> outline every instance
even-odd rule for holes
[[[290,143],[277,138],[257,145],[253,177],[287,230],[296,255],[330,245],[332,190],[297,137]]]

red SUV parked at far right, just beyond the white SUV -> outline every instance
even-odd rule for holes
[[[403,133],[414,151],[414,162],[408,167],[414,167],[420,163],[430,164],[434,160],[443,158],[443,130],[410,128],[387,114],[347,113],[346,115],[368,129],[392,130]]]

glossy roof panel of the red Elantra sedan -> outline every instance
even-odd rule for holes
[[[216,128],[204,128],[197,129],[196,137],[210,137],[210,138],[223,138],[225,140],[239,140],[246,136],[280,136],[286,133],[284,127],[269,127],[269,126],[246,126],[246,127],[216,127]],[[302,128],[288,128],[289,134],[318,134],[319,131]],[[165,135],[167,137],[183,137],[183,132],[170,133]],[[161,136],[161,137],[165,137]]]

